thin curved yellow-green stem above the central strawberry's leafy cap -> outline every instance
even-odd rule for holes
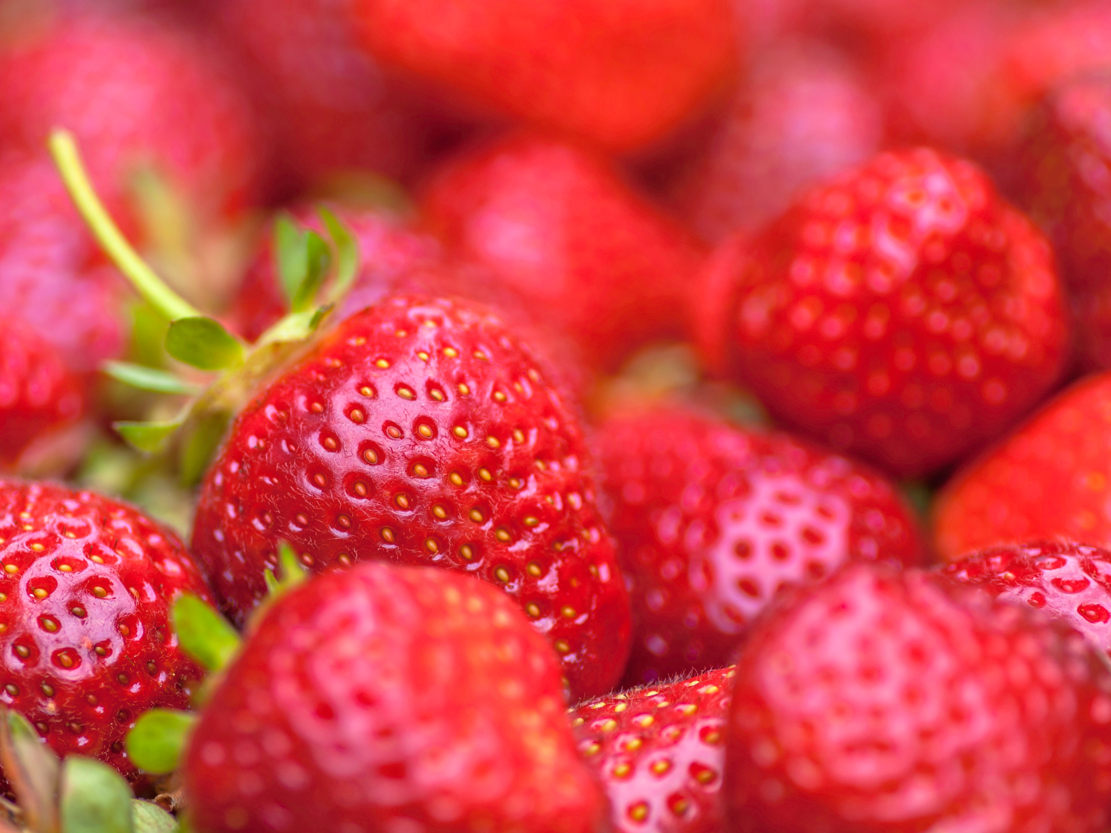
[[[89,174],[81,162],[81,154],[73,141],[72,133],[66,130],[54,130],[50,134],[50,154],[54,159],[58,172],[61,174],[66,190],[69,191],[77,210],[81,212],[84,222],[92,230],[101,248],[112,259],[112,262],[131,281],[139,294],[154,309],[171,321],[179,318],[200,315],[192,304],[166,285],[166,282],[154,274],[131,243],[120,232],[100,201],[89,181]]]

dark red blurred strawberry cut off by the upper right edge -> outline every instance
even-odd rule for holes
[[[1111,368],[1111,78],[1077,79],[1035,112],[1013,159],[1021,204],[1061,257],[1085,364]]]

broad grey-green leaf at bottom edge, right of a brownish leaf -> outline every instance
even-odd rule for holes
[[[133,833],[131,787],[113,767],[70,755],[62,770],[62,833]]]

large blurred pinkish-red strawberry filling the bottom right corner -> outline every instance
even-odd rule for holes
[[[730,830],[1103,830],[1111,675],[1023,608],[864,564],[800,590],[737,660]]]

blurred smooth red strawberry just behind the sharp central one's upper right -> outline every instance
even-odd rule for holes
[[[422,209],[450,251],[487,265],[595,365],[681,330],[699,248],[587,151],[501,139],[441,171]]]

